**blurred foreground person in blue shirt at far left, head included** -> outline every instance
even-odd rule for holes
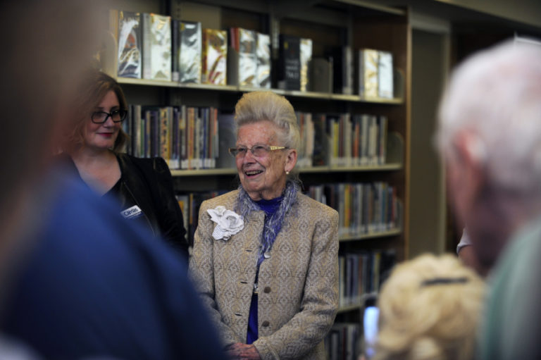
[[[80,115],[74,86],[99,47],[101,9],[0,5],[0,358],[18,342],[44,359],[220,359],[180,259],[51,168],[61,130]]]

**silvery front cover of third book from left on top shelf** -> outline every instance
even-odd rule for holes
[[[203,34],[201,23],[181,21],[179,24],[179,81],[201,83]]]

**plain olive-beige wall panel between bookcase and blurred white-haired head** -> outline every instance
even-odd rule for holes
[[[413,30],[409,256],[444,252],[444,173],[433,146],[447,35]]]

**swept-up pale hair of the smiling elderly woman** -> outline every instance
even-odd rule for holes
[[[242,95],[235,105],[237,132],[242,125],[265,120],[282,130],[283,136],[280,139],[283,146],[290,149],[299,147],[299,125],[290,101],[270,91],[247,92]]]

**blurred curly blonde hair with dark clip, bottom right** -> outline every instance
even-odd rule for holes
[[[473,359],[485,284],[456,256],[424,254],[383,285],[375,359]]]

